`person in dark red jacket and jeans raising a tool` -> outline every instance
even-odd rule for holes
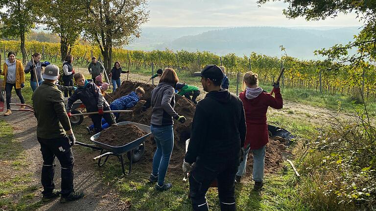
[[[245,90],[239,94],[243,102],[247,135],[244,142],[244,160],[240,163],[235,176],[235,182],[240,183],[245,174],[247,157],[250,150],[253,152],[253,180],[254,190],[259,191],[263,186],[265,145],[269,141],[266,112],[268,107],[281,109],[283,107],[280,84],[273,84],[275,98],[258,86],[258,74],[247,72],[243,77]]]

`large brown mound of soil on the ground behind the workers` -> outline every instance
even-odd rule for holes
[[[136,83],[130,81],[124,81],[121,86],[117,89],[115,98],[121,97],[123,95],[127,95],[130,92],[134,91],[138,86],[144,87],[145,95],[144,100],[148,100],[151,98],[151,91],[153,90],[153,86],[149,84],[143,83]],[[175,175],[183,175],[182,174],[182,164],[183,159],[185,156],[186,151],[186,140],[190,137],[190,127],[192,125],[192,119],[194,115],[194,111],[196,106],[189,101],[187,98],[182,97],[180,95],[175,95],[175,111],[179,115],[184,115],[187,118],[186,123],[181,124],[177,121],[174,121],[174,149],[172,151],[170,164],[168,166],[169,174]],[[144,102],[139,102],[138,105],[131,108],[134,110],[132,113],[121,113],[117,122],[122,121],[131,121],[137,122],[143,125],[150,125],[150,119],[152,114],[152,108],[148,108],[146,111],[141,112],[139,109]],[[124,135],[122,135],[124,137]],[[281,144],[280,141],[274,140],[273,138],[269,139],[269,143],[266,145],[266,152],[265,152],[265,172],[277,172],[279,169],[282,168],[282,150],[280,149],[279,145]],[[153,136],[149,136],[146,139],[145,145],[145,154],[143,159],[139,161],[141,165],[150,166],[153,161],[154,152],[156,150],[156,145],[154,143]],[[249,153],[249,159],[247,161],[247,173],[246,177],[252,177],[252,168],[253,168],[253,159],[252,159],[252,152]]]

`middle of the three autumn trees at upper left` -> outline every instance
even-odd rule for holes
[[[71,47],[79,38],[87,17],[84,0],[47,0],[43,22],[47,29],[60,37],[61,60],[71,53]]]

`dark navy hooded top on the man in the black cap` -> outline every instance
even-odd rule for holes
[[[213,169],[223,164],[238,166],[246,135],[240,99],[226,89],[208,93],[196,105],[190,135],[186,162]]]

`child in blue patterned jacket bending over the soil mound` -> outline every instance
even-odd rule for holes
[[[111,103],[110,108],[111,108],[111,110],[126,110],[126,109],[129,109],[129,108],[135,106],[140,101],[140,99],[142,98],[142,96],[144,94],[145,94],[145,91],[143,90],[143,88],[141,88],[139,86],[139,87],[136,88],[136,91],[131,92],[128,95],[122,96],[122,97],[114,100]],[[114,113],[114,114],[115,114],[116,118],[118,118],[119,115],[120,115],[119,113]],[[105,119],[102,119],[102,129],[106,129],[108,127],[110,127],[110,125],[107,123],[107,121]],[[86,129],[91,134],[93,129],[94,129],[94,125],[92,124],[91,126],[86,127]]]

